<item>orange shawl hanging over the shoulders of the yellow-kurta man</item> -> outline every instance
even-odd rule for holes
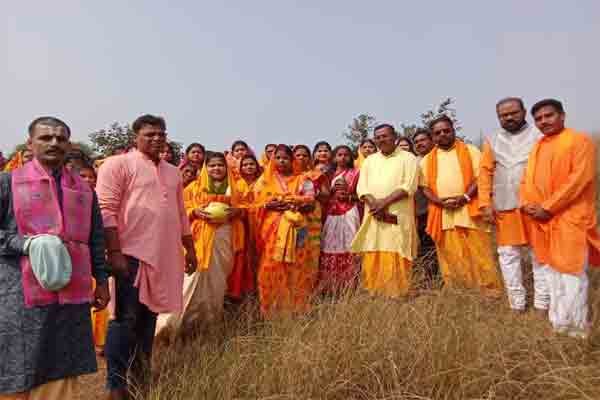
[[[471,183],[475,180],[475,174],[473,171],[473,162],[471,160],[471,153],[469,153],[469,147],[461,140],[454,142],[456,148],[456,155],[458,157],[458,164],[460,165],[460,172],[462,174],[463,182],[465,184],[465,193]],[[437,172],[438,172],[438,147],[434,147],[427,159],[427,185],[434,195],[437,193]],[[469,204],[469,215],[471,217],[477,217],[479,214],[479,202],[477,196],[473,197]],[[435,242],[439,242],[442,239],[442,207],[429,202],[427,211],[427,233]]]

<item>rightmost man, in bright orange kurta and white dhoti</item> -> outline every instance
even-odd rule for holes
[[[585,134],[565,128],[558,100],[536,103],[531,114],[544,137],[534,146],[521,185],[529,244],[545,265],[554,329],[586,337],[588,264],[598,265],[596,149]]]

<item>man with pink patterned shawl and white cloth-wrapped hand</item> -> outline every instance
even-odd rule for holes
[[[0,174],[2,400],[74,400],[77,377],[97,370],[90,306],[109,301],[104,232],[94,192],[64,167],[70,137],[58,118],[34,120],[33,160]]]

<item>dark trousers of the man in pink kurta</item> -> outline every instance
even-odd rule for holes
[[[139,261],[128,257],[129,276],[115,278],[115,319],[108,324],[106,346],[106,387],[124,389],[130,384],[143,387],[150,376],[156,314],[140,303],[133,286]]]

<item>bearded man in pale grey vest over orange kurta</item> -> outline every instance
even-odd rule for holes
[[[525,120],[523,100],[508,97],[496,104],[502,129],[491,134],[483,144],[479,172],[479,207],[484,219],[496,227],[500,269],[504,277],[510,308],[524,312],[526,291],[523,285],[522,247],[527,244],[519,209],[521,176],[533,145],[542,136],[535,125]],[[534,308],[540,315],[548,313],[549,295],[545,268],[535,257],[533,262]]]

